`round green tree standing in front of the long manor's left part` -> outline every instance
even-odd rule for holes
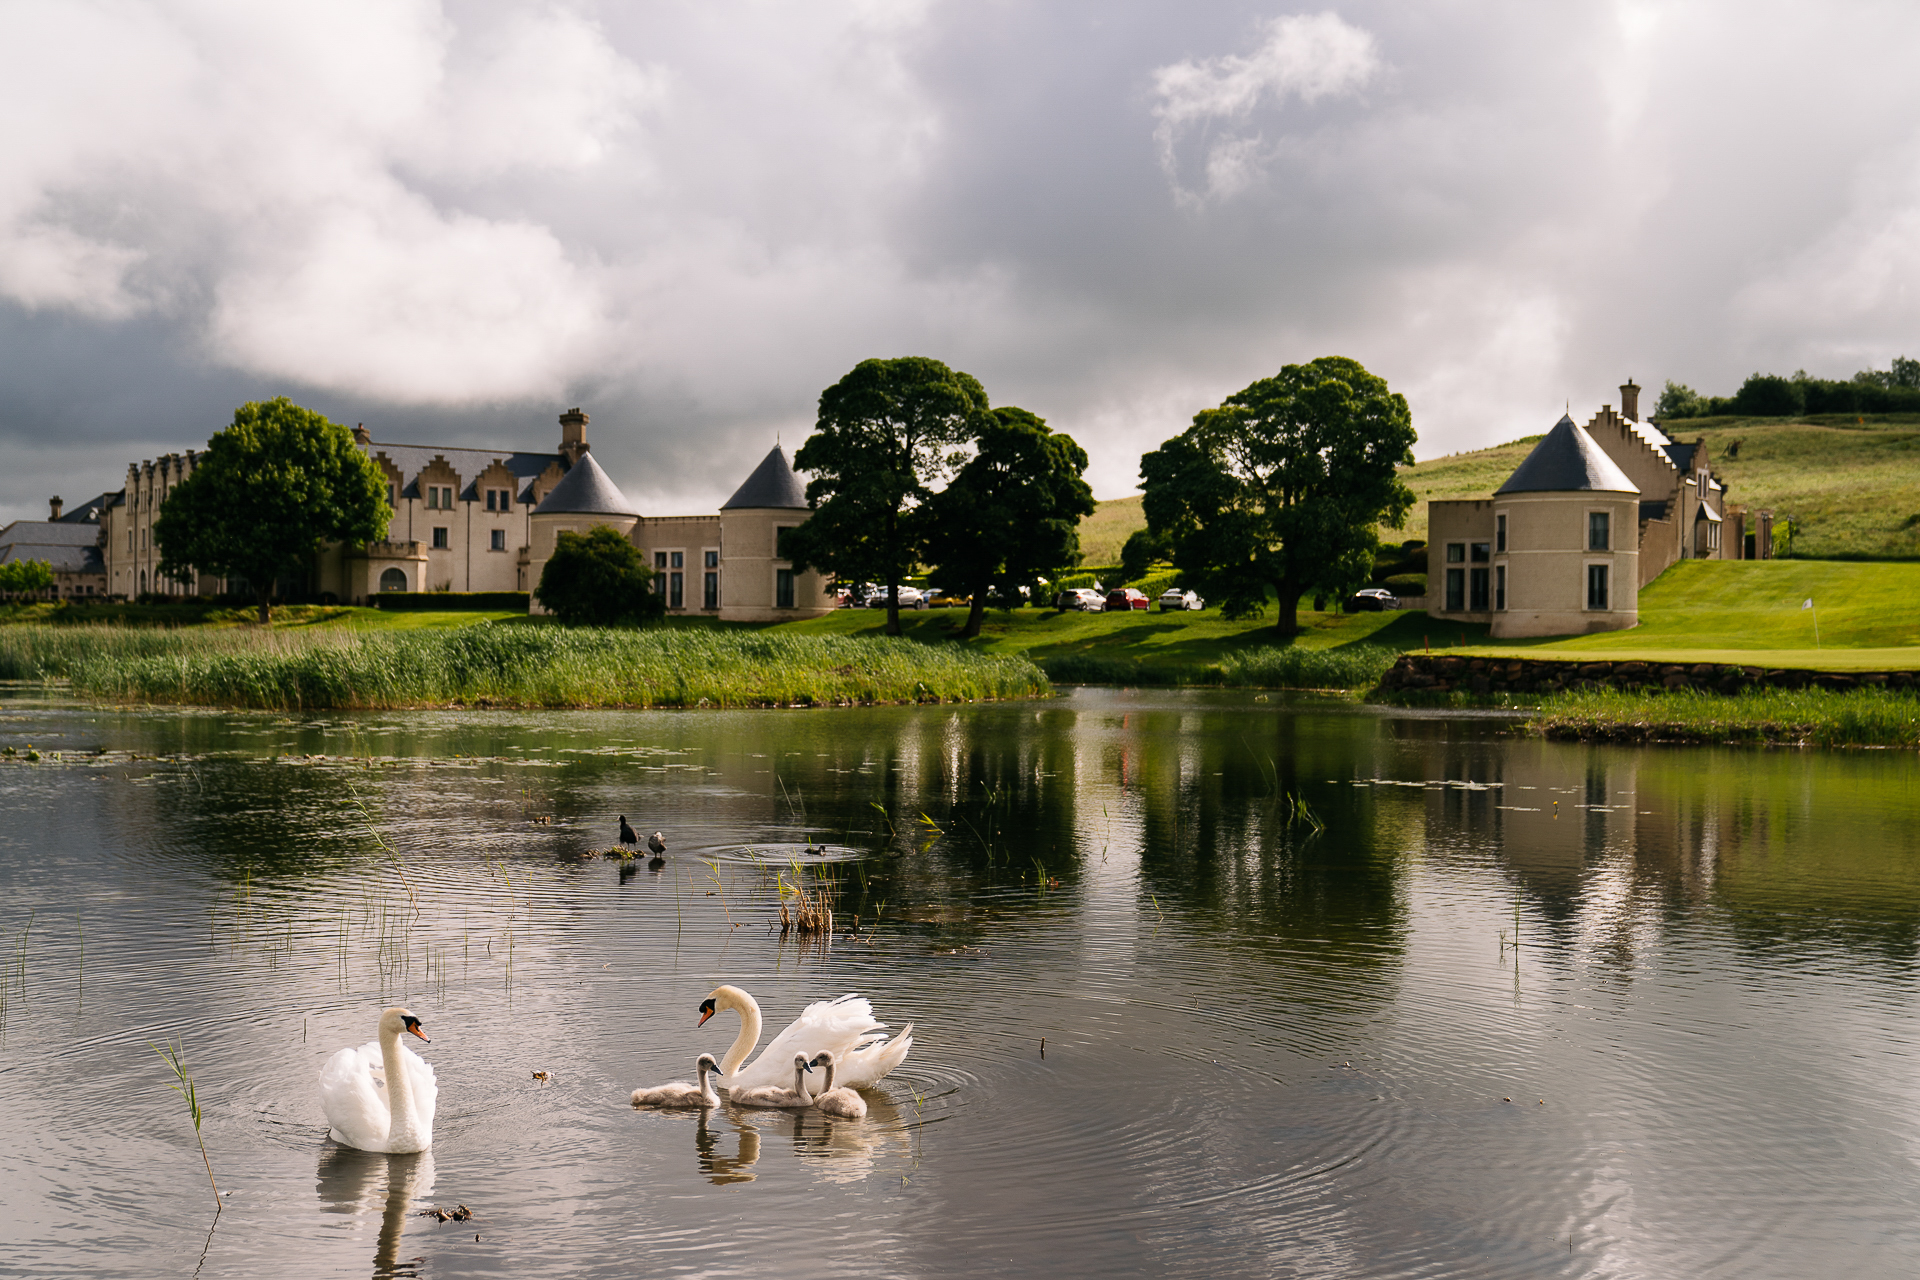
[[[326,543],[386,537],[386,478],[353,434],[284,395],[246,403],[207,441],[154,520],[159,572],[246,578],[269,622],[273,583],[313,568]]]

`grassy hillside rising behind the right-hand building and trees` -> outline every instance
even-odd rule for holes
[[[1920,558],[1920,415],[1684,418],[1674,439],[1705,439],[1728,501],[1772,509],[1799,526],[1795,558]],[[1427,537],[1427,503],[1486,497],[1513,474],[1538,436],[1404,468],[1415,507],[1380,541]],[[1734,457],[1728,445],[1740,441]],[[1081,524],[1089,564],[1114,564],[1127,533],[1144,528],[1139,497],[1100,503]],[[1096,555],[1098,549],[1098,555]]]

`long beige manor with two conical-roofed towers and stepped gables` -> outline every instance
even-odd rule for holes
[[[376,604],[390,591],[532,591],[561,530],[616,528],[655,566],[655,589],[672,614],[768,622],[828,612],[833,593],[814,572],[780,558],[780,533],[808,516],[806,489],[780,445],[718,512],[643,516],[593,461],[588,415],[561,415],[559,449],[449,449],[374,441],[359,447],[386,476],[394,509],[386,537],[332,545],[280,595]],[[159,574],[154,518],[198,462],[169,453],[127,468],[127,486],[98,503],[102,593],[240,595],[246,583],[211,574],[175,581]],[[541,612],[538,601],[532,612]]]

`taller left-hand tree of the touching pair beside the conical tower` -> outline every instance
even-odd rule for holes
[[[814,434],[793,455],[812,476],[814,514],[783,539],[797,570],[887,587],[887,635],[900,633],[900,578],[922,558],[924,503],[966,459],[987,391],[922,355],[860,361],[820,393]]]

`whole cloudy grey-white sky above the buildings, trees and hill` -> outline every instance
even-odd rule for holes
[[[6,0],[0,518],[286,393],[708,510],[933,355],[1092,455],[1350,355],[1423,457],[1920,355],[1908,4]]]

